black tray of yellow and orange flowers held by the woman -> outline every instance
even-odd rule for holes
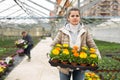
[[[89,49],[82,47],[82,49],[79,50],[77,46],[71,48],[68,44],[56,44],[49,54],[49,63],[54,67],[60,66],[78,70],[96,70],[98,68],[98,55],[95,52],[96,50],[94,48]],[[53,60],[58,61],[53,62]],[[82,64],[86,64],[86,66]]]

